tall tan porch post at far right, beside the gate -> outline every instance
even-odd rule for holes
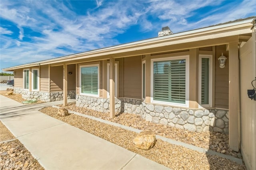
[[[238,61],[238,42],[229,43],[229,147],[230,149],[239,151],[239,61]]]

